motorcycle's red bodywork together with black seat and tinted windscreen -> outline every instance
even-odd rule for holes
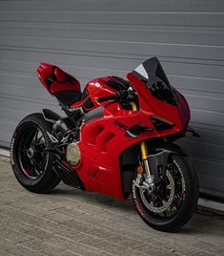
[[[37,73],[68,113],[83,110],[77,141],[81,160],[72,168],[88,191],[124,199],[132,186],[137,159],[133,157],[133,164],[130,159],[135,146],[142,140],[173,141],[184,136],[188,127],[187,101],[170,85],[157,58],[142,63],[127,75],[128,80],[115,76],[93,79],[83,93],[76,78],[53,65],[42,63]],[[99,100],[130,87],[136,95],[137,111],[126,102]]]

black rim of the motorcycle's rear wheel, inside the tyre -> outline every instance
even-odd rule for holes
[[[47,144],[43,131],[31,124],[22,130],[18,143],[18,163],[22,175],[30,180],[39,179],[48,162]]]

